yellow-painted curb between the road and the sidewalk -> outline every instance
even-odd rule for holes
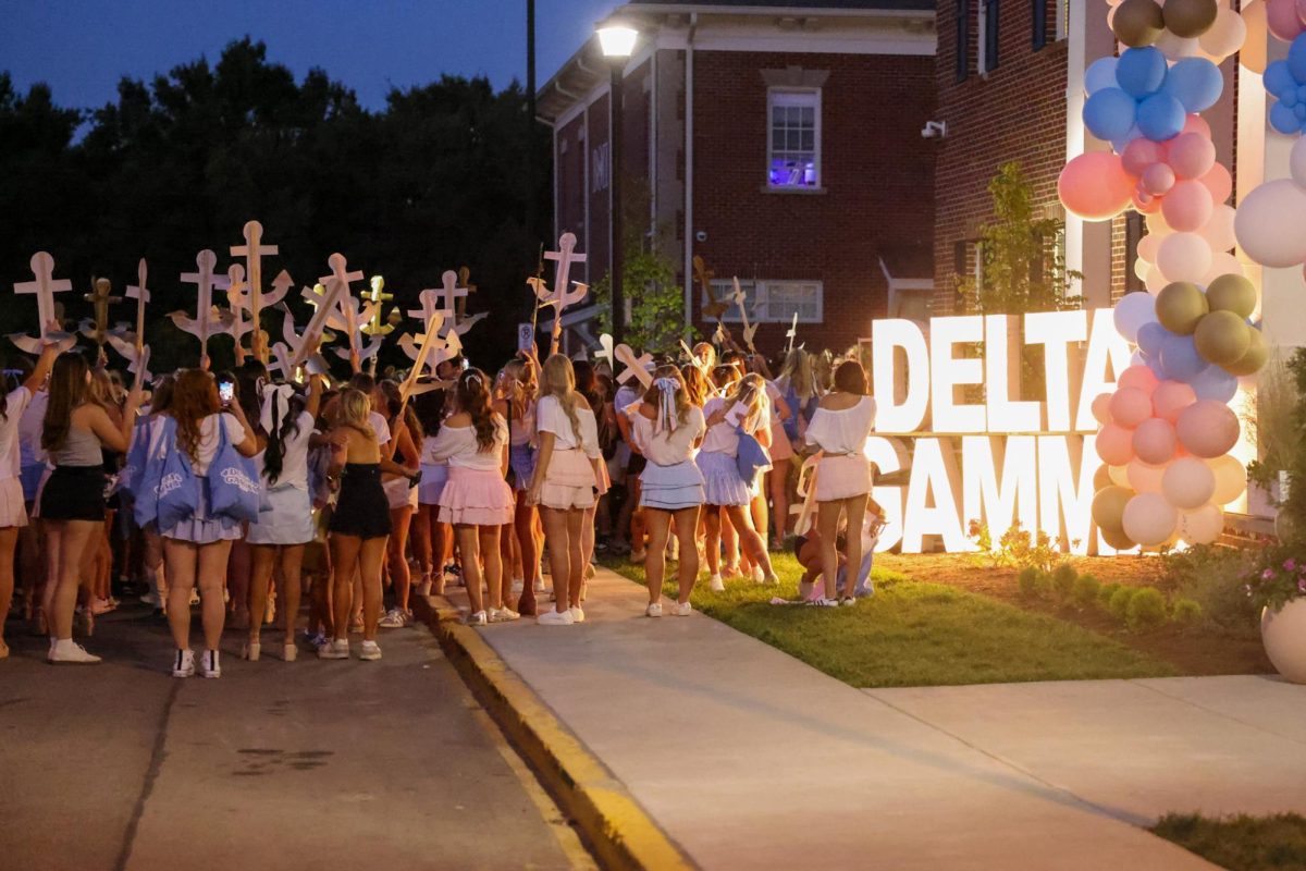
[[[414,595],[414,611],[477,700],[521,751],[554,800],[575,820],[605,868],[663,871],[693,862],[640,807],[461,612],[438,595]]]

